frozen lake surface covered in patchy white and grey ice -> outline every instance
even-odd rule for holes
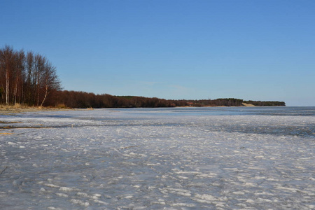
[[[0,121],[0,209],[315,209],[314,107]]]

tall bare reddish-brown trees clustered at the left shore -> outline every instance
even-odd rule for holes
[[[55,66],[43,55],[0,48],[0,104],[42,106],[61,90]]]

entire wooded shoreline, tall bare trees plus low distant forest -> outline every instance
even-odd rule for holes
[[[0,49],[0,104],[59,108],[135,108],[175,106],[286,106],[284,102],[242,99],[167,100],[62,90],[55,66],[42,55],[10,46]]]

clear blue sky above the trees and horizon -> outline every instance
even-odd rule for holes
[[[315,1],[0,0],[0,47],[64,90],[315,106]]]

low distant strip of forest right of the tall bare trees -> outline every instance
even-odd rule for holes
[[[78,91],[57,91],[45,106],[61,108],[155,108],[176,106],[242,106],[242,99],[207,99],[207,100],[167,100],[156,97],[113,96],[111,94],[94,94]],[[255,102],[250,101],[255,105]],[[284,102],[257,102],[258,106],[285,106]],[[265,103],[265,104],[264,104]],[[271,105],[268,105],[271,104]]]

